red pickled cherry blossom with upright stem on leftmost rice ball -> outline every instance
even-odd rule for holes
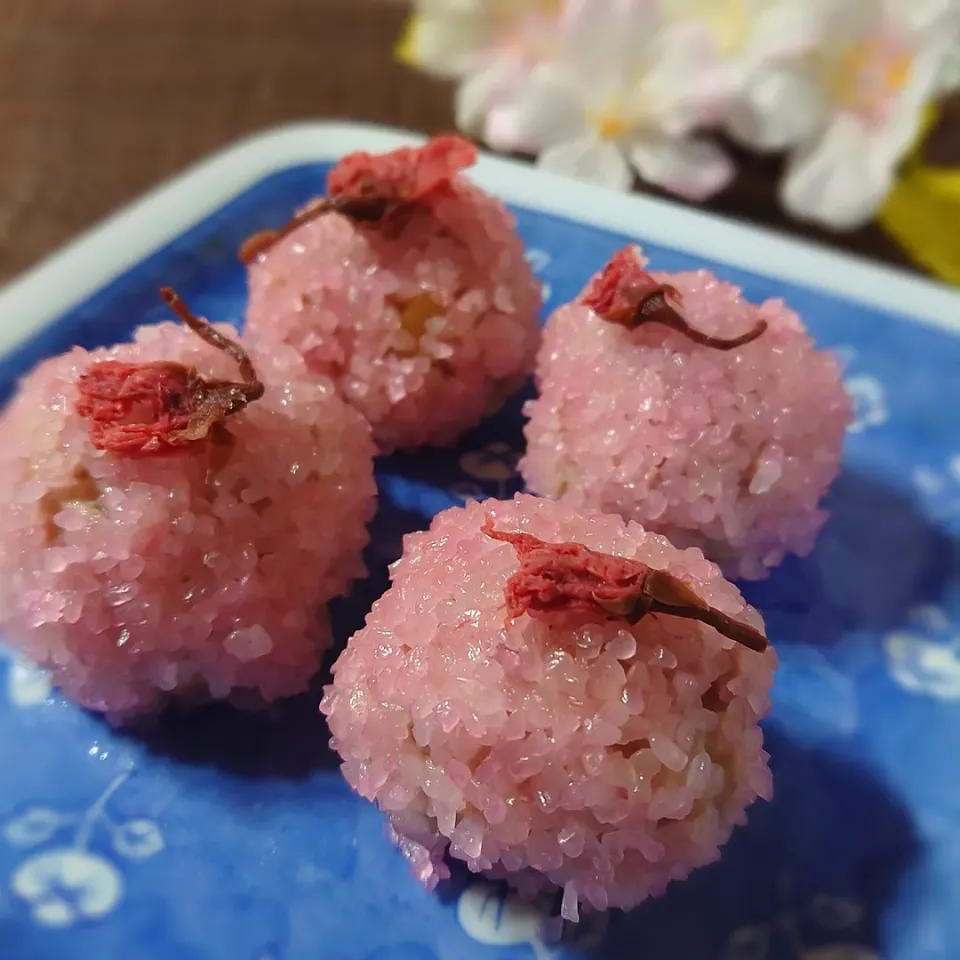
[[[77,380],[77,412],[90,421],[98,450],[169,452],[207,439],[227,417],[263,395],[263,384],[238,344],[194,316],[169,288],[161,295],[198,336],[237,361],[243,382],[207,381],[180,363],[94,363]]]

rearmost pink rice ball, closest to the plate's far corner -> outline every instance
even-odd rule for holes
[[[438,182],[381,222],[302,212],[249,266],[248,335],[293,346],[373,424],[385,453],[453,443],[533,370],[541,287],[513,217],[460,173],[475,156],[446,137],[347,157],[331,174],[334,204],[352,175],[386,190],[391,176],[439,168]]]

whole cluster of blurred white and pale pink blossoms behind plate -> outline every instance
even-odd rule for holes
[[[554,173],[691,200],[732,178],[709,134],[789,153],[796,217],[883,204],[957,87],[960,0],[417,0],[401,58],[458,81],[458,125]],[[952,66],[953,65],[953,66]]]

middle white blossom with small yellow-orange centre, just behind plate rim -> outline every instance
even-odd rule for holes
[[[490,110],[486,139],[498,149],[529,145],[554,173],[626,190],[636,170],[704,199],[733,173],[715,144],[689,136],[716,111],[708,52],[702,29],[664,28],[644,0],[568,3],[557,57]]]

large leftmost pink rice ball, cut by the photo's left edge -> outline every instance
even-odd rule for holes
[[[303,691],[328,645],[323,604],[364,575],[369,426],[295,350],[251,359],[263,398],[216,442],[98,449],[78,411],[100,361],[236,379],[173,323],[41,363],[0,418],[0,630],[88,709],[123,719],[175,694]],[[120,429],[136,434],[137,416]]]

